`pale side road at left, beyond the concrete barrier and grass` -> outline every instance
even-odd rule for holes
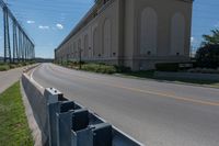
[[[0,93],[18,81],[22,75],[23,68],[0,71]]]

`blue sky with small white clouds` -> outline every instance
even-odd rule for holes
[[[9,8],[34,40],[37,57],[54,57],[66,35],[93,5],[93,0],[7,0]],[[219,0],[195,0],[193,9],[192,44],[196,49],[203,34],[219,27]],[[0,14],[2,19],[2,13]],[[2,21],[0,21],[2,22]],[[2,24],[0,24],[2,30]],[[0,31],[0,56],[3,54]]]

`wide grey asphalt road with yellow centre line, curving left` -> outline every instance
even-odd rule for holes
[[[33,71],[148,146],[219,146],[219,90],[43,64]]]

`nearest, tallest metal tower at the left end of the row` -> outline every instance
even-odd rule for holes
[[[8,8],[3,8],[3,26],[4,26],[4,63],[11,63],[11,47],[10,47],[10,33],[9,33],[9,12]]]

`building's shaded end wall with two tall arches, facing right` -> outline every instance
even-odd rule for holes
[[[192,2],[127,0],[126,13],[125,58],[134,70],[189,59]]]

